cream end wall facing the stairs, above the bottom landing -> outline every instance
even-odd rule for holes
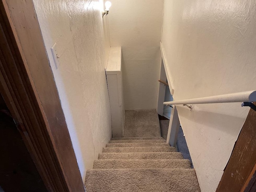
[[[156,108],[163,0],[111,0],[110,46],[122,47],[126,110]]]

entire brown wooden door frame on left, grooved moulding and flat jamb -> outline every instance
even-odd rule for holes
[[[0,91],[48,190],[84,192],[32,0],[0,1]]]

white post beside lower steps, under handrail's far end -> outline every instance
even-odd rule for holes
[[[170,123],[167,133],[166,143],[169,143],[170,146],[176,147],[178,132],[180,129],[180,120],[178,116],[178,111],[175,105],[172,105],[172,112],[170,117]]]

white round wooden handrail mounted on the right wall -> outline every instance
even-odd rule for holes
[[[232,93],[232,94],[216,95],[216,96],[210,96],[210,97],[195,98],[195,99],[168,101],[168,102],[164,102],[164,105],[255,102],[255,101],[256,101],[256,90]]]

